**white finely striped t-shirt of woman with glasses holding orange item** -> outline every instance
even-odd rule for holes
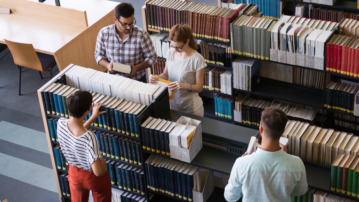
[[[195,85],[196,72],[206,66],[203,56],[198,52],[187,59],[180,59],[174,48],[167,51],[168,80],[171,82],[179,81],[182,84]],[[203,102],[198,93],[177,90],[173,93],[173,99],[169,100],[169,105],[171,109],[193,113],[202,107]]]

